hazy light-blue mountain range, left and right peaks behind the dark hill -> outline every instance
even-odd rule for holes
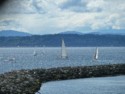
[[[93,32],[89,33],[82,33],[78,31],[65,31],[65,32],[60,32],[58,34],[77,34],[77,35],[84,35],[84,34],[98,34],[98,35],[103,35],[103,34],[111,34],[111,35],[125,35],[125,30],[94,30]],[[21,31],[15,31],[15,30],[2,30],[0,31],[0,37],[15,37],[15,36],[31,36],[32,34],[26,33],[26,32],[21,32]]]

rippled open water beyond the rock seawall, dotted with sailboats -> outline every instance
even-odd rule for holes
[[[61,48],[0,48],[0,73],[34,68],[89,66],[125,63],[125,47],[100,47],[99,60],[93,61],[95,47],[67,48],[68,60],[60,58]],[[34,51],[37,53],[34,56]],[[15,61],[8,59],[15,58]]]

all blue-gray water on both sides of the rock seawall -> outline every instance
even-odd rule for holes
[[[89,66],[125,63],[125,47],[100,47],[94,61],[95,47],[67,48],[68,60],[62,60],[61,48],[0,48],[0,73],[11,70]],[[36,51],[37,56],[33,56]],[[15,58],[15,61],[11,61]],[[125,94],[125,76],[90,78],[45,83],[42,94]]]

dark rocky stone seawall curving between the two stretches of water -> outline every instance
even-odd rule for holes
[[[125,75],[125,64],[13,71],[0,75],[0,94],[35,94],[47,81],[115,75]]]

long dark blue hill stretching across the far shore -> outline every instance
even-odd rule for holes
[[[97,46],[124,46],[125,35],[98,35],[98,34],[54,34],[33,35],[25,37],[0,37],[1,47],[59,47],[61,39],[68,47],[97,47]]]

